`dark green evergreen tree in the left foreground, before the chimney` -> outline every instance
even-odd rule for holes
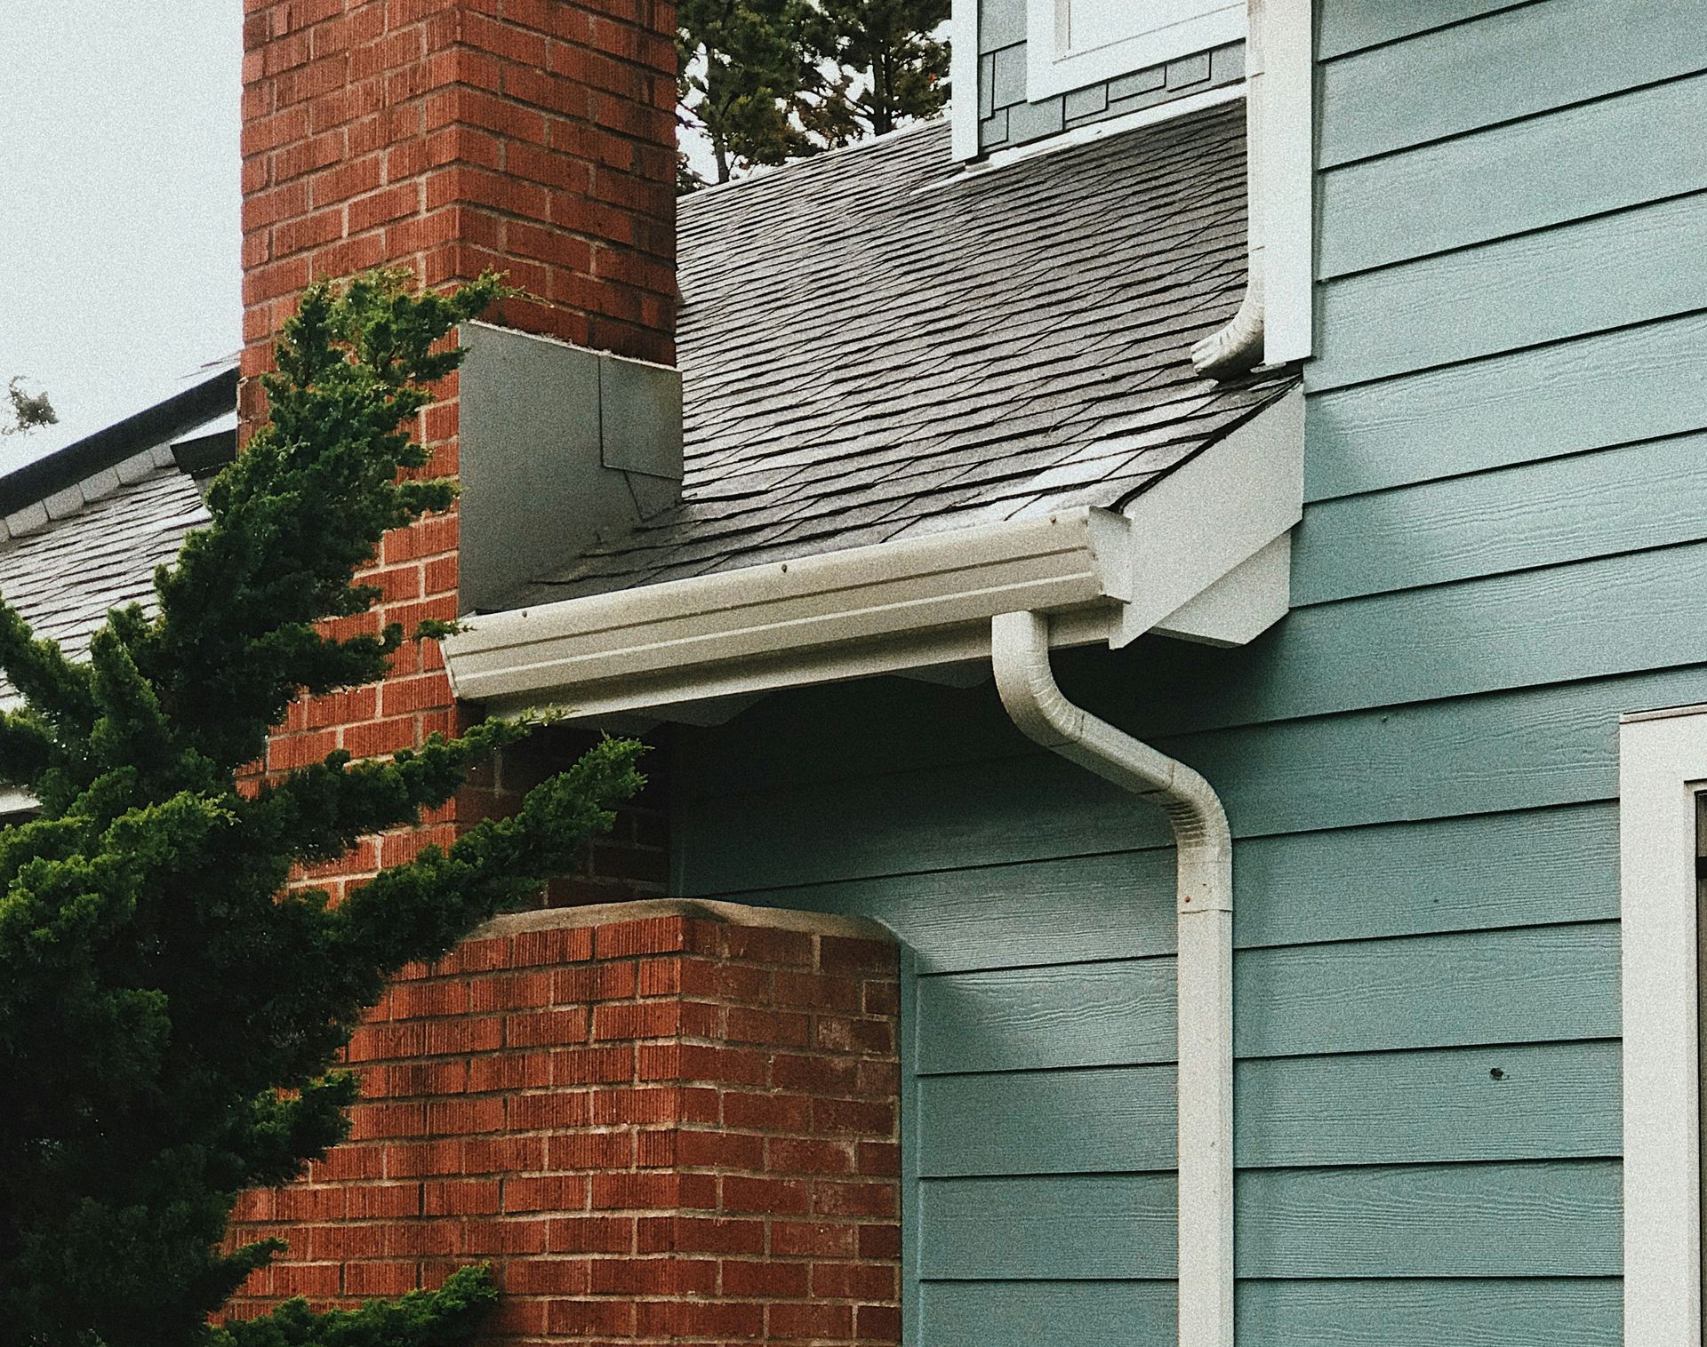
[[[516,817],[336,905],[292,868],[418,822],[526,730],[335,752],[242,788],[304,689],[372,682],[434,634],[323,622],[377,598],[353,575],[382,534],[451,505],[403,426],[461,360],[440,339],[500,293],[490,276],[420,297],[396,273],[314,285],[266,379],[270,421],[155,575],[157,614],[114,609],[75,663],[0,605],[0,668],[24,697],[0,716],[0,778],[41,805],[0,830],[0,1340],[440,1342],[490,1298],[469,1272],[449,1299],[365,1320],[205,1325],[273,1252],[220,1250],[236,1197],[343,1137],[357,1084],[333,1062],[386,977],[538,892],[638,784],[638,745],[604,742]]]

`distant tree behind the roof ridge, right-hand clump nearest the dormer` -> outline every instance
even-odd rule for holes
[[[826,145],[932,118],[949,97],[951,0],[813,0],[802,43],[826,72],[801,121]]]

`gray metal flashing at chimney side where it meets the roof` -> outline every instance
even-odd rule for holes
[[[486,612],[681,500],[681,375],[483,322],[459,336],[459,607]]]

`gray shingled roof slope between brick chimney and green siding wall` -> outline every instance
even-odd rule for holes
[[[1197,377],[1243,104],[964,171],[932,123],[681,203],[683,503],[517,602],[1118,506],[1296,375]]]

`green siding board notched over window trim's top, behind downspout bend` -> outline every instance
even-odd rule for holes
[[[1700,701],[1707,672],[1681,668],[1157,747],[1215,783],[1236,837],[1263,837],[1613,800],[1618,714]],[[744,835],[753,818],[763,846]],[[1168,841],[1154,806],[1052,754],[696,801],[673,822],[685,897]]]

